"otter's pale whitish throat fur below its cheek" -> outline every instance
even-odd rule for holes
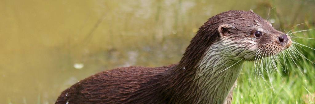
[[[203,98],[199,100],[200,103],[225,102],[240,75],[244,60],[233,53],[238,48],[228,46],[226,43],[212,44],[196,68],[195,81],[199,88],[197,93]]]

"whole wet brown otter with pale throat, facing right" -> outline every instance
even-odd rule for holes
[[[63,91],[56,104],[230,104],[243,62],[290,45],[253,11],[227,11],[199,28],[178,64],[103,71]]]

